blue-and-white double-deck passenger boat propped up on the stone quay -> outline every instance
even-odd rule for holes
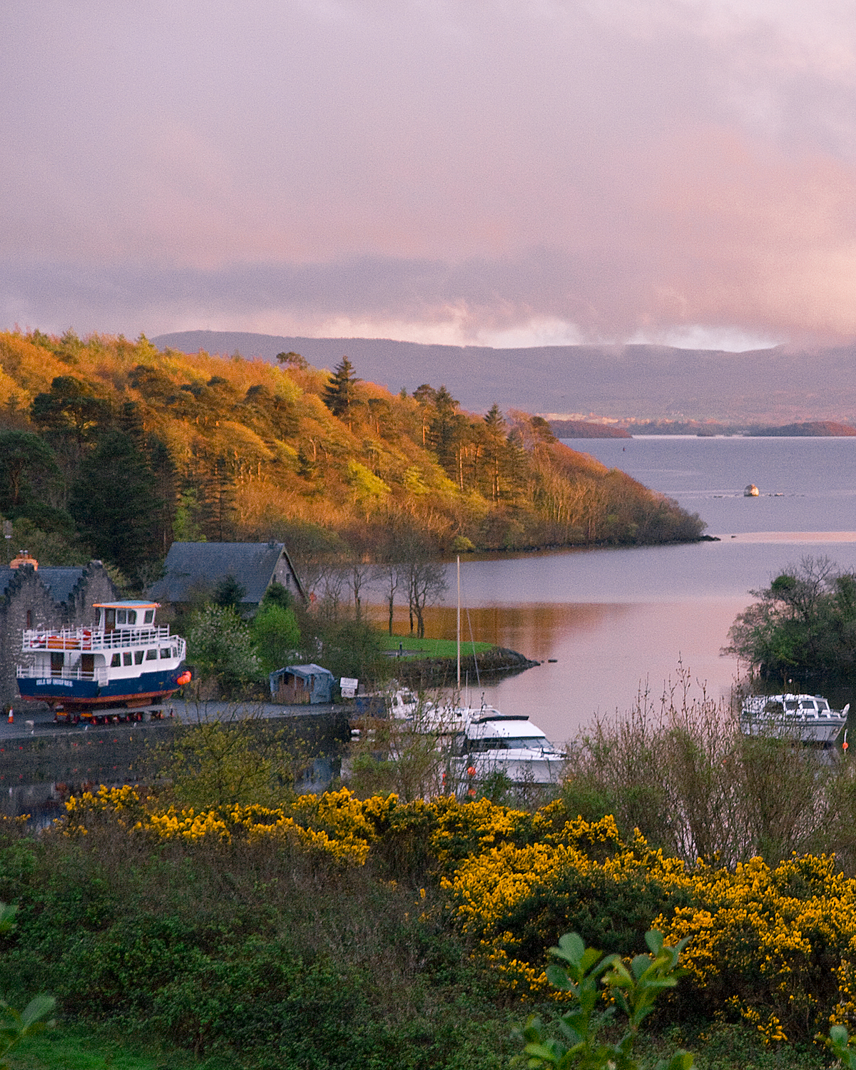
[[[157,716],[164,699],[190,682],[187,645],[155,623],[154,601],[95,602],[92,628],[26,629],[17,667],[21,699],[45,702],[57,720]]]

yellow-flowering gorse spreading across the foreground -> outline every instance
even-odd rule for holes
[[[158,809],[133,788],[102,788],[66,810],[67,836],[116,822],[158,842],[279,841],[355,866],[396,837],[422,837],[449,919],[522,998],[547,994],[546,948],[575,928],[588,900],[607,914],[644,901],[640,938],[647,928],[672,946],[689,937],[687,977],[671,999],[740,1015],[770,1041],[856,1022],[856,881],[834,857],[794,855],[775,868],[754,858],[733,871],[687,866],[639,834],[623,842],[612,817],[569,817],[561,801],[532,814],[487,799],[361,800],[342,789],[280,808],[196,812]]]

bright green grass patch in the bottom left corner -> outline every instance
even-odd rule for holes
[[[82,1025],[59,1025],[21,1041],[7,1056],[11,1070],[190,1070],[184,1052],[140,1052],[127,1041]]]

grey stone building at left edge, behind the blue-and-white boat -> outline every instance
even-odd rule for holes
[[[15,668],[24,660],[26,628],[83,628],[95,623],[92,603],[114,601],[119,592],[100,561],[86,567],[39,567],[22,550],[0,568],[0,703],[19,707]]]

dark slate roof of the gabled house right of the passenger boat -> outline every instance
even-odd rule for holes
[[[166,576],[149,594],[158,601],[186,602],[200,588],[213,591],[232,576],[244,587],[242,605],[257,606],[284,550],[281,542],[173,542],[164,564]]]

